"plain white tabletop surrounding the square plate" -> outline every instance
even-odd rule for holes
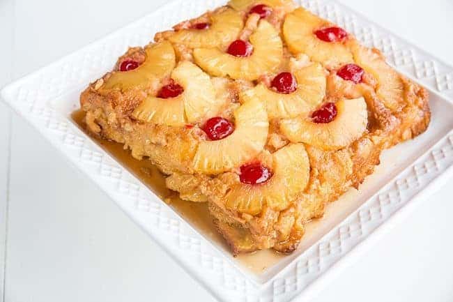
[[[0,86],[165,2],[0,0]],[[452,0],[341,2],[453,65]],[[452,195],[450,180],[314,301],[453,301]],[[2,302],[214,301],[3,104],[0,293]]]

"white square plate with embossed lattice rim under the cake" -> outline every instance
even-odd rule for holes
[[[155,32],[225,2],[171,2],[6,86],[1,96],[217,299],[286,302],[298,294],[314,294],[376,241],[385,227],[401,221],[421,197],[453,175],[453,68],[335,1],[302,1],[314,13],[355,34],[364,45],[380,49],[397,70],[425,86],[431,94],[432,122],[427,133],[385,151],[381,165],[360,191],[351,190],[328,206],[325,218],[309,225],[298,250],[262,264],[266,269],[256,272],[162,202],[70,118],[79,107],[79,93],[110,70],[128,46],[145,45]]]

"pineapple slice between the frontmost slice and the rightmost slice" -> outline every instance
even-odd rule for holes
[[[342,149],[360,138],[368,124],[364,98],[339,100],[337,117],[330,123],[314,123],[305,119],[286,119],[280,130],[291,142],[304,142],[323,150]]]

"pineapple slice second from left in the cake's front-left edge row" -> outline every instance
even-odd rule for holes
[[[194,63],[179,63],[171,78],[183,86],[184,92],[176,98],[148,96],[132,113],[135,119],[159,125],[184,126],[217,114],[224,105],[224,101],[217,100],[209,75]]]

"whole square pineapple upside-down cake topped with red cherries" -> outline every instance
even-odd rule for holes
[[[231,0],[157,33],[80,103],[91,133],[207,202],[235,255],[295,250],[383,149],[430,121],[422,87],[291,0]]]

